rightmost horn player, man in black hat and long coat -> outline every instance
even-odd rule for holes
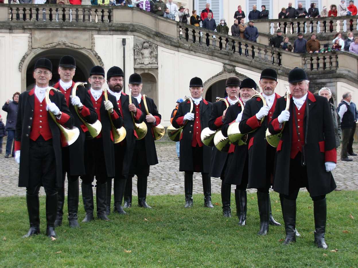
[[[336,188],[331,171],[337,161],[330,107],[324,97],[308,91],[309,81],[303,69],[290,71],[289,86],[289,111],[285,110],[286,99],[280,98],[269,124],[271,134],[282,131],[274,190],[280,193],[284,216],[283,243],[296,242],[296,199],[300,187],[306,187],[313,200],[314,241],[319,248],[327,248],[325,195]]]

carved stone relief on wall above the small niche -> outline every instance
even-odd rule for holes
[[[134,45],[134,67],[158,68],[158,46],[149,41],[139,41]]]

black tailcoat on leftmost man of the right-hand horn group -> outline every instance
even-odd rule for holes
[[[200,112],[200,125],[203,130],[208,126],[209,117],[211,113],[212,103],[202,100],[200,101],[199,112]],[[193,111],[190,110],[190,101],[183,101],[179,103],[178,111],[175,114],[173,119],[174,128],[179,128],[180,125],[176,123],[176,119],[185,114]],[[192,154],[192,140],[193,140],[193,125],[194,120],[187,121],[185,124],[182,134],[180,134],[180,162],[179,162],[179,171],[194,171],[193,154]],[[199,133],[200,135],[200,133]],[[203,145],[203,173],[209,173],[210,169],[210,160],[211,160],[211,147]]]

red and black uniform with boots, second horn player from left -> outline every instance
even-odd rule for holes
[[[84,175],[84,156],[83,156],[83,148],[84,148],[84,140],[86,139],[85,132],[87,131],[87,127],[83,124],[81,119],[78,117],[74,106],[71,103],[71,94],[72,88],[74,86],[74,82],[72,81],[72,86],[68,89],[63,89],[60,82],[53,85],[54,88],[59,89],[61,93],[65,96],[66,104],[71,111],[74,117],[74,125],[79,129],[79,137],[75,143],[70,146],[62,148],[62,185],[58,188],[58,208],[57,208],[57,217],[56,217],[56,226],[60,226],[62,224],[63,217],[63,205],[64,205],[64,181],[66,178],[68,179],[68,195],[67,195],[67,203],[68,203],[68,220],[70,226],[72,224],[78,225],[78,223],[74,223],[73,220],[77,222],[77,212],[78,212],[78,198],[79,198],[79,175]],[[80,116],[84,121],[89,124],[93,124],[97,121],[97,113],[95,108],[93,108],[91,98],[88,94],[88,91],[84,86],[78,86],[76,90],[76,96],[79,97],[81,103],[83,104],[82,109],[78,109]]]

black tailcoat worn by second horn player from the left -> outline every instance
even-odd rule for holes
[[[72,83],[73,86],[74,83]],[[71,88],[67,90],[71,90]],[[60,83],[53,85],[54,88],[60,89]],[[76,90],[76,96],[79,97],[83,106],[86,106],[89,109],[90,114],[83,117],[83,120],[89,124],[93,124],[97,121],[97,113],[91,101],[91,97],[88,94],[88,90],[84,86],[78,86]],[[70,175],[84,175],[86,173],[84,168],[84,158],[83,158],[83,146],[84,140],[86,139],[86,134],[83,132],[82,127],[84,127],[83,122],[79,119],[74,106],[71,103],[71,100],[68,103],[68,108],[71,111],[74,117],[74,126],[79,129],[79,137],[75,143],[69,146],[69,165],[70,165]]]

